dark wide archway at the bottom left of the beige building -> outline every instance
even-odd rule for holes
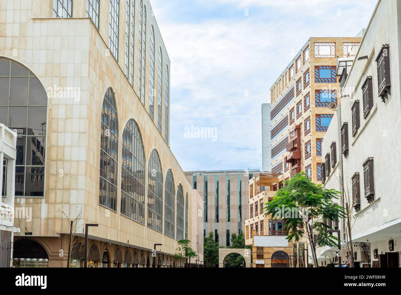
[[[48,267],[49,255],[38,242],[21,239],[14,242],[14,267]]]

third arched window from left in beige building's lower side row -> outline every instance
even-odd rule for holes
[[[148,227],[163,231],[163,174],[156,150],[150,154],[148,165]]]

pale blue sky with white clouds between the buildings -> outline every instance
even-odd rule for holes
[[[271,85],[310,37],[354,37],[377,3],[150,2],[171,61],[170,148],[184,171],[261,169]]]

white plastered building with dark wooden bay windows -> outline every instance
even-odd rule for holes
[[[400,266],[400,20],[401,0],[379,0],[354,61],[338,60],[341,108],[322,146],[324,187],[352,209],[355,267]],[[340,230],[345,244],[344,221]],[[321,266],[336,259],[332,249],[319,254]]]

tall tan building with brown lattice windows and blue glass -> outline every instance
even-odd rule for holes
[[[271,86],[270,155],[263,162],[270,161],[271,173],[282,173],[280,180],[304,171],[320,183],[329,106],[339,104],[337,57],[354,56],[360,40],[310,38]]]

